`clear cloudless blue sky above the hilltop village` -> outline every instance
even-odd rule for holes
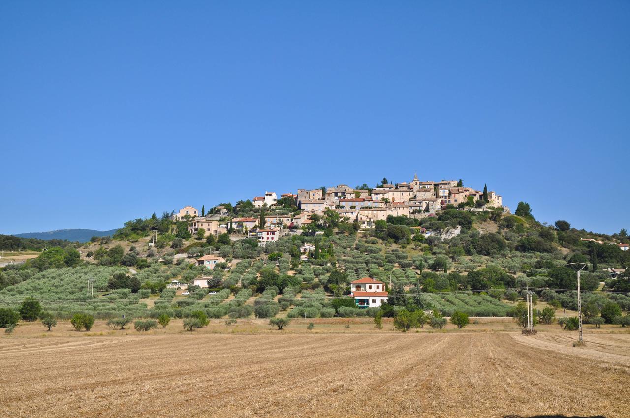
[[[0,233],[463,179],[630,228],[627,1],[0,2]]]

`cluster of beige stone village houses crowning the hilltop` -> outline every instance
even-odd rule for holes
[[[265,245],[284,234],[308,232],[308,225],[326,211],[355,223],[358,229],[373,229],[376,221],[389,216],[421,219],[435,217],[440,210],[449,208],[471,212],[501,208],[503,213],[510,213],[501,196],[486,186],[479,191],[464,187],[462,180],[420,181],[415,174],[408,183],[389,184],[384,178],[375,188],[339,184],[332,188],[297,189],[297,193],[284,193],[279,198],[274,191],[265,191],[263,196],[237,203],[236,212],[257,209],[262,213],[259,217],[229,217],[232,207],[227,204],[215,206],[208,213],[205,206],[201,211],[184,206],[171,218],[187,221],[191,234],[199,234],[199,230],[213,235],[241,232]]]

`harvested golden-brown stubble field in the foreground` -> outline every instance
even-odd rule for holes
[[[0,416],[627,417],[629,340],[597,338],[594,354],[551,334],[5,338]]]

